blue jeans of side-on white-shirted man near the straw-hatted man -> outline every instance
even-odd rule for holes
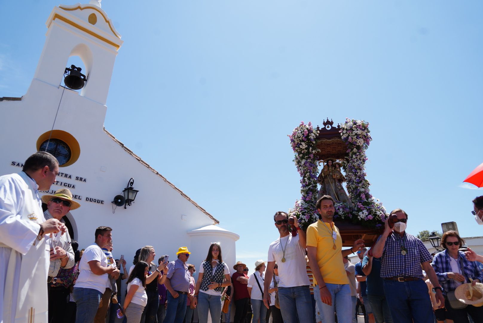
[[[75,323],[94,322],[102,293],[97,289],[74,287],[72,294],[77,304]]]

